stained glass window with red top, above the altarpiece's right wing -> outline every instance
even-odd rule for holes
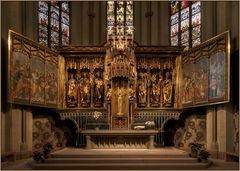
[[[171,1],[171,45],[186,49],[201,43],[201,2]]]

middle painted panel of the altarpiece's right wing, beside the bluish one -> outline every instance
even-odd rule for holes
[[[194,100],[196,104],[208,102],[208,58],[195,63]]]

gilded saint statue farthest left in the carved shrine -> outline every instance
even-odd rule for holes
[[[71,74],[68,80],[67,105],[69,107],[77,106],[77,82],[73,78],[73,74]]]

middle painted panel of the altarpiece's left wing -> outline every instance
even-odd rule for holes
[[[31,103],[44,104],[45,65],[38,58],[31,59]]]

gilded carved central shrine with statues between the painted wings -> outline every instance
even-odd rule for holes
[[[157,130],[149,136],[163,145],[164,124],[178,119],[182,111],[177,67],[182,50],[136,43],[126,51],[112,51],[108,44],[59,48],[64,56],[59,68],[64,98],[58,112],[62,119],[76,123],[77,145],[86,143],[88,130],[109,130],[111,136],[116,136],[114,131]]]

